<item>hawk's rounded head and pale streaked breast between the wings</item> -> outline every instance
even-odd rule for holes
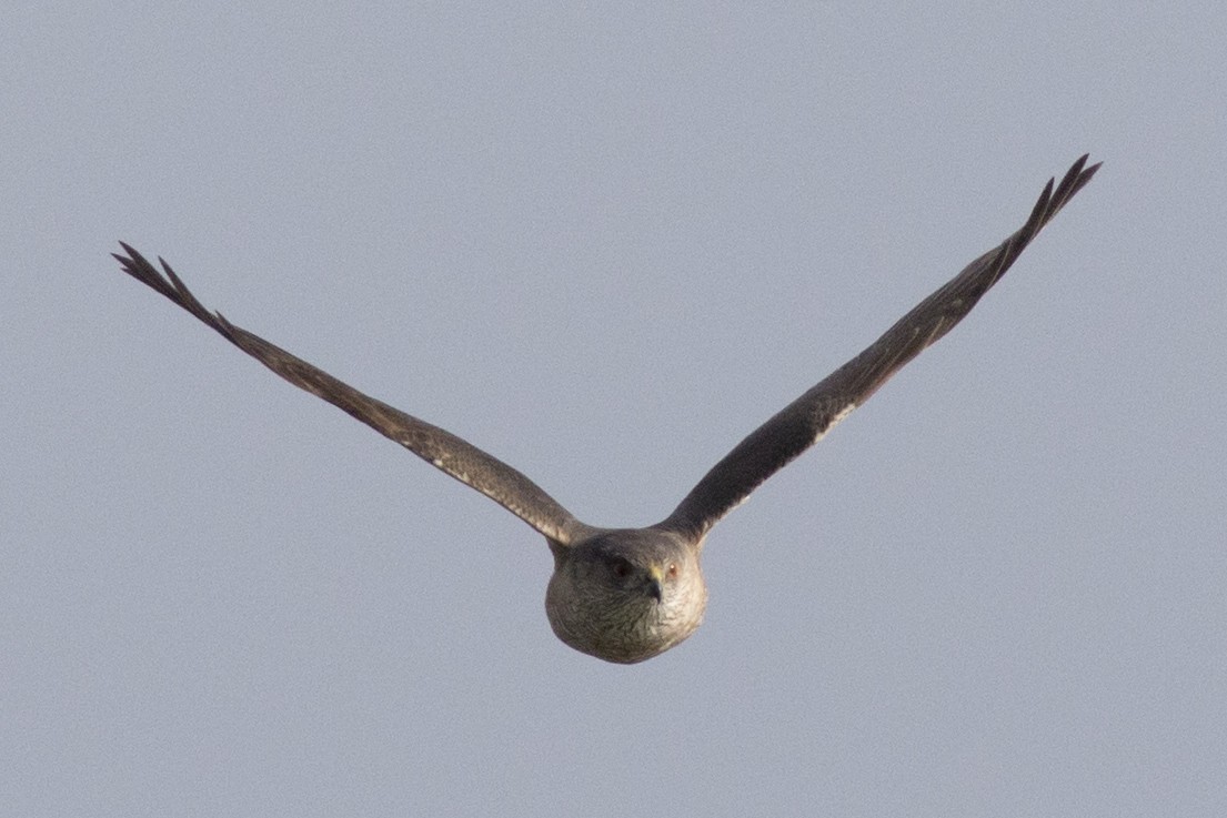
[[[545,611],[558,639],[610,662],[642,662],[703,622],[698,548],[655,529],[604,531],[555,546]]]

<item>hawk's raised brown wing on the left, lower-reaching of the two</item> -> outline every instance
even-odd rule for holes
[[[432,466],[471,486],[520,518],[550,540],[567,546],[588,526],[546,494],[536,483],[501,460],[450,432],[363,395],[323,369],[238,327],[221,313],[210,313],[162,259],[163,276],[140,253],[120,242],[128,255],[112,254],[124,272],[148,285],[215,329],[222,337],[277,373],[294,386],[345,410],[379,434],[395,440]]]

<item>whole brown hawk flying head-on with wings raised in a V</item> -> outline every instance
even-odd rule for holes
[[[546,616],[567,645],[610,662],[656,656],[703,621],[699,557],[708,532],[763,481],[791,462],[944,336],[1017,260],[1039,231],[1091,180],[1082,156],[1039,195],[1026,223],[967,265],[860,354],[772,416],[715,464],[672,514],[644,529],[580,522],[536,483],[437,426],[360,392],[323,369],[231,324],[196,300],[164,260],[161,271],[130,245],[113,254],[124,272],[162,293],[294,386],[345,410],[436,468],[477,489],[544,535],[553,554]]]

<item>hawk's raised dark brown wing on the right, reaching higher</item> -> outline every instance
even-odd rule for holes
[[[891,375],[963,320],[1040,228],[1091,180],[1098,164],[1081,157],[1053,191],[1039,195],[1031,217],[999,247],[972,261],[920,302],[855,358],[785,406],[718,462],[659,527],[694,542],[742,503],[763,481],[822,439],[836,423],[869,400]]]

